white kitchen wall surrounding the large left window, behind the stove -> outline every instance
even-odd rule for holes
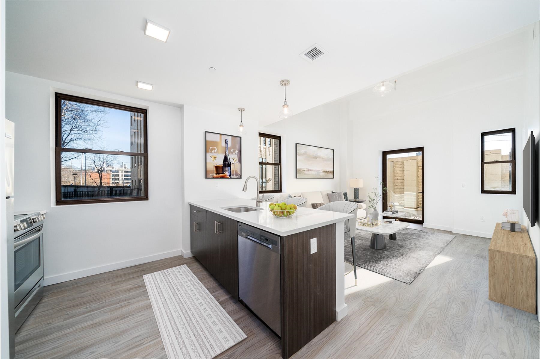
[[[148,109],[149,201],[55,205],[55,91]],[[180,254],[180,108],[10,72],[6,105],[17,134],[15,210],[49,210],[45,284]]]

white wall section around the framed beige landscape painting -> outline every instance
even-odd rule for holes
[[[348,102],[334,101],[260,128],[281,136],[283,192],[347,190],[347,125]],[[334,178],[295,178],[296,143],[334,149]]]

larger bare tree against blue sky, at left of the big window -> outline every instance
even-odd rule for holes
[[[87,103],[62,100],[62,143],[64,148],[88,146],[93,141],[103,138],[103,129],[107,127],[104,116],[109,113],[106,107]],[[65,153],[67,154],[67,153]],[[62,156],[62,162],[73,160],[79,154],[69,153]]]

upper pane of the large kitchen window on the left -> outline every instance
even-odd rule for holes
[[[144,114],[61,101],[60,147],[144,152]]]

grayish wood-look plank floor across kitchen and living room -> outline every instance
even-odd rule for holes
[[[410,285],[358,268],[354,286],[348,273],[348,315],[293,357],[538,358],[537,316],[488,300],[488,247],[489,239],[456,234]],[[165,358],[142,276],[182,264],[247,335],[218,357],[280,357],[278,338],[182,257],[45,287],[15,337],[16,357]]]

